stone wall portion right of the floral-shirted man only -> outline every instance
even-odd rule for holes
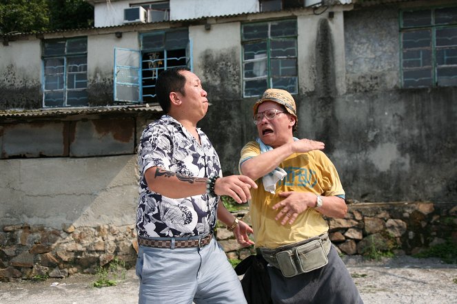
[[[247,210],[235,215],[250,224]],[[327,219],[329,237],[342,254],[378,252],[416,254],[451,239],[457,243],[457,204],[418,202],[349,202],[344,219]],[[251,248],[241,248],[225,226],[217,238],[230,259],[244,259]]]

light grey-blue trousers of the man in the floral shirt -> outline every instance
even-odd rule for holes
[[[203,248],[139,247],[140,304],[245,304],[241,282],[213,237]]]

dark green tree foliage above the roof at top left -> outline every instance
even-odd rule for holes
[[[1,0],[0,34],[88,28],[94,8],[85,0]]]

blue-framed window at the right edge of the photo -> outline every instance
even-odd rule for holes
[[[457,7],[400,12],[405,88],[457,85]]]

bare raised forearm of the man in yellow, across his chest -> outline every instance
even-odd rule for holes
[[[270,173],[278,164],[293,153],[290,144],[278,146],[278,148],[250,158],[241,164],[241,173],[257,180],[259,177]]]

